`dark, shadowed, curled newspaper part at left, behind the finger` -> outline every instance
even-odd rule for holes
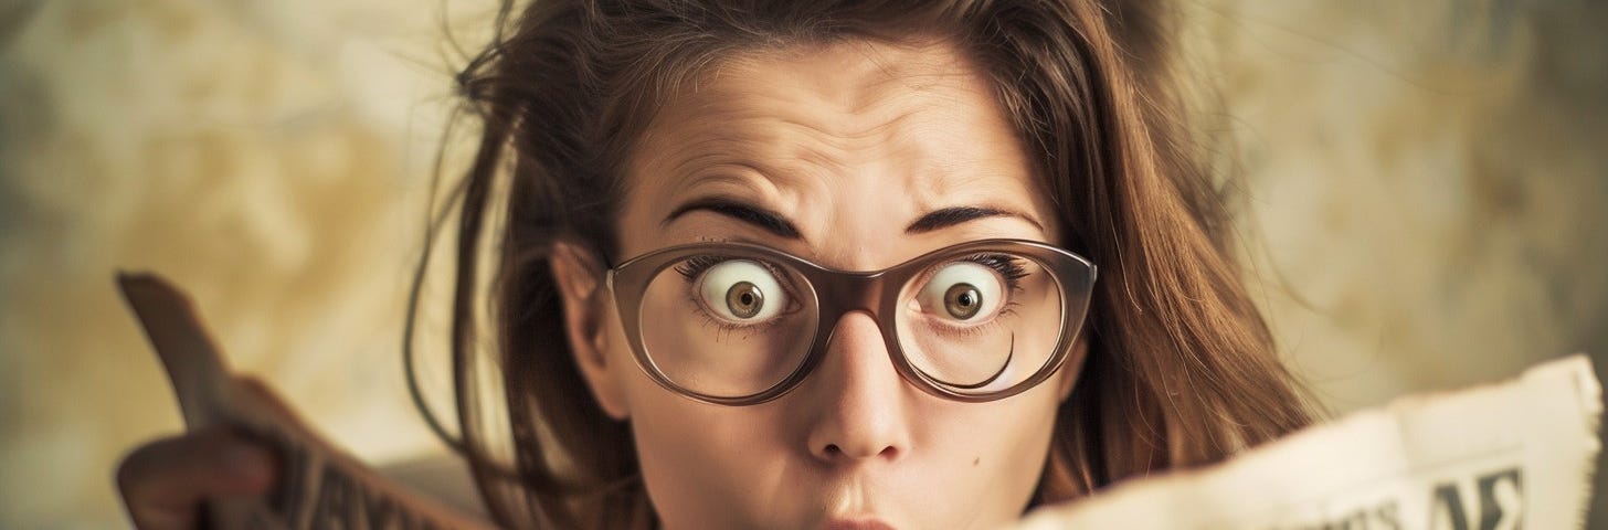
[[[156,349],[191,430],[228,426],[273,445],[281,459],[275,491],[214,501],[217,528],[490,528],[381,477],[314,434],[281,403],[230,374],[190,300],[150,275],[119,275],[117,286]]]

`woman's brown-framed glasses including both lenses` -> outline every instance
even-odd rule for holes
[[[849,312],[870,313],[905,381],[991,402],[1061,366],[1095,273],[1084,257],[1021,239],[963,243],[880,271],[716,243],[634,257],[608,271],[608,289],[643,371],[699,402],[781,397],[820,363]]]

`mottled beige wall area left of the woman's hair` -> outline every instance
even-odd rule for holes
[[[0,527],[122,525],[117,458],[182,427],[117,268],[187,287],[339,443],[428,448],[397,350],[437,3],[0,5]]]

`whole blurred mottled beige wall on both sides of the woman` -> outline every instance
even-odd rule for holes
[[[0,527],[125,527],[117,459],[182,429],[117,270],[188,289],[336,443],[441,451],[404,302],[461,64],[442,35],[484,42],[494,8],[0,0]],[[1608,6],[1179,8],[1257,297],[1328,408],[1608,365]]]

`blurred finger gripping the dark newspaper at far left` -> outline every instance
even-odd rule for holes
[[[117,488],[135,527],[195,528],[203,501],[264,495],[277,474],[267,446],[207,429],[135,450],[117,467]]]

